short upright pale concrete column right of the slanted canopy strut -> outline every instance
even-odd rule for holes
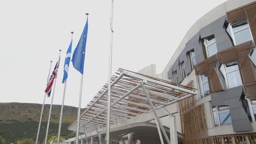
[[[170,142],[173,144],[178,144],[176,118],[173,114],[170,114],[169,116],[170,116]]]

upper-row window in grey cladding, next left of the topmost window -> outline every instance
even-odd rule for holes
[[[211,57],[218,52],[214,35],[205,39],[205,46],[207,57]]]

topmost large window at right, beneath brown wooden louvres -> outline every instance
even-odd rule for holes
[[[230,30],[235,46],[252,40],[252,34],[247,20],[242,20],[233,24]]]

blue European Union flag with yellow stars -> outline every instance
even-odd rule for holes
[[[76,49],[74,49],[74,53],[72,56],[72,63],[74,69],[78,70],[81,74],[84,74],[84,63],[85,63],[85,46],[87,40],[87,32],[88,32],[88,17],[86,20],[84,31],[82,31],[82,35],[77,44]]]

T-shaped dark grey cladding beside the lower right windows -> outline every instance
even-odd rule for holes
[[[234,132],[252,131],[250,120],[245,113],[242,102],[240,102],[242,92],[243,86],[239,86],[210,94],[213,105],[229,106]]]

